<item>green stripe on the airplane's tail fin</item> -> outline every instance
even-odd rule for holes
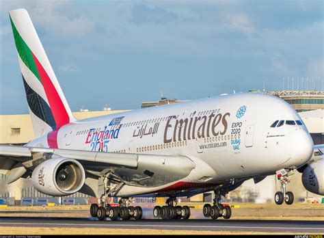
[[[33,72],[33,74],[38,78],[40,83],[42,83],[42,81],[40,80],[40,75],[38,74],[36,64],[33,60],[33,55],[31,53],[31,50],[29,49],[29,47],[27,46],[23,38],[21,38],[21,35],[19,34],[16,27],[14,26],[14,23],[12,22],[11,16],[10,16],[10,22],[12,26],[12,31],[14,32],[14,42],[16,44],[16,48],[19,56],[21,57],[25,65],[29,68],[29,70],[31,70],[31,72]]]

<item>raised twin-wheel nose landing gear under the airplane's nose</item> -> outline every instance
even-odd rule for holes
[[[281,183],[281,191],[277,191],[275,193],[275,204],[282,204],[283,202],[286,202],[286,204],[290,205],[294,202],[294,194],[291,191],[286,191],[286,185],[290,182],[288,179],[288,176],[291,176],[295,174],[296,170],[280,170],[277,174],[277,179]]]

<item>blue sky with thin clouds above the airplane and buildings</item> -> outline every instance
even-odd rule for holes
[[[72,111],[138,109],[161,92],[300,90],[302,78],[323,90],[324,1],[1,0],[0,114],[28,113],[16,8],[29,12]]]

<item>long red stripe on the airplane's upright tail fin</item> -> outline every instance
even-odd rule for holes
[[[54,116],[56,128],[62,127],[64,124],[70,122],[70,117],[68,116],[68,112],[66,111],[64,104],[61,98],[59,97],[59,94],[57,93],[55,86],[53,85],[51,79],[49,78],[49,75],[47,75],[42,64],[40,64],[40,62],[38,61],[38,59],[34,54],[33,54],[33,59],[35,60],[38,74],[40,75],[40,79],[42,80],[42,85],[44,87],[47,100],[49,100],[49,105],[51,107],[51,111]]]

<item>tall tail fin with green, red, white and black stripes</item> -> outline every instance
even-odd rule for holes
[[[36,137],[75,118],[25,9],[9,12],[29,113]]]

